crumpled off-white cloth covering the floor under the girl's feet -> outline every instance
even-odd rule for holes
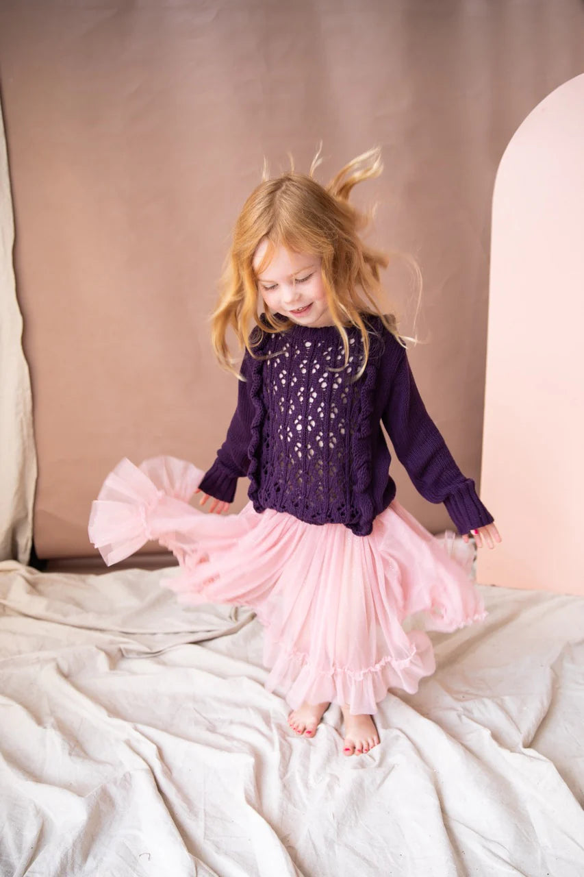
[[[349,758],[338,706],[288,728],[252,612],[159,578],[0,563],[2,877],[584,873],[583,598],[482,587]]]

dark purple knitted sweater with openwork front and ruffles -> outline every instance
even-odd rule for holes
[[[364,315],[365,317],[365,315]],[[345,524],[358,536],[395,497],[391,454],[381,423],[415,487],[431,503],[445,503],[460,534],[494,518],[465,478],[424,407],[404,348],[376,316],[367,315],[370,351],[359,330],[347,328],[345,361],[336,326],[295,324],[263,336],[256,360],[245,353],[238,405],[217,460],[200,488],[231,503],[247,475],[253,508],[286,511],[309,524]]]

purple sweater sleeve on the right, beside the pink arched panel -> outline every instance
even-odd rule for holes
[[[388,400],[381,419],[397,459],[424,499],[445,504],[460,535],[492,524],[494,517],[481,503],[474,480],[460,472],[424,406],[405,349],[397,342],[395,347],[400,352],[388,378]]]

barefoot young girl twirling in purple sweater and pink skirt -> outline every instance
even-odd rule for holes
[[[224,367],[228,328],[244,356],[217,459],[206,473],[171,457],[122,460],[89,537],[108,565],[156,538],[179,561],[163,584],[182,602],[255,610],[266,688],[285,695],[290,727],[312,737],[336,702],[352,755],[379,743],[373,716],[388,688],[414,693],[433,673],[424,629],[485,616],[466,569],[395,499],[381,424],[466,542],[471,531],[489,548],[501,537],[424,407],[395,317],[377,305],[388,260],[360,239],[365,217],[348,198],[381,173],[379,150],[326,188],[316,166],[264,179],[235,226],[211,337]],[[217,517],[244,475],[246,507]],[[194,493],[211,514],[189,504]]]

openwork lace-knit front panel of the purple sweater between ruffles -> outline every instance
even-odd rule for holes
[[[348,523],[350,453],[360,419],[360,388],[348,378],[359,368],[361,339],[352,334],[346,366],[340,337],[272,337],[264,366],[260,487],[264,506],[294,510],[304,521]],[[359,352],[359,355],[358,355]],[[333,372],[331,368],[343,368]],[[269,477],[268,477],[269,476]]]

